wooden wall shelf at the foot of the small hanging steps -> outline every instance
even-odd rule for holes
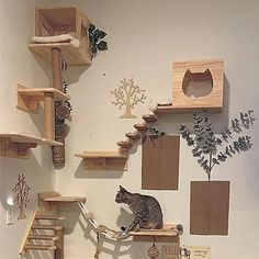
[[[83,159],[88,170],[127,170],[128,155],[120,151],[83,151],[75,156]]]

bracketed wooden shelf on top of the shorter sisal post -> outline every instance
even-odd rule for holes
[[[70,100],[70,97],[55,88],[26,88],[20,83],[16,85],[16,108],[23,111],[37,112],[41,101],[44,101],[45,94],[52,93],[54,101]]]

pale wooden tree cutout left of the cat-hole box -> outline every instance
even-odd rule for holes
[[[136,116],[132,114],[132,109],[138,103],[144,103],[146,99],[144,94],[145,90],[142,90],[138,86],[134,83],[133,78],[126,80],[126,78],[121,80],[121,85],[111,91],[115,95],[115,101],[112,102],[115,106],[119,105],[121,110],[125,106],[125,113],[120,116],[121,119],[135,119]]]

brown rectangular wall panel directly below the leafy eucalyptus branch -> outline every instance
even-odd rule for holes
[[[191,234],[228,234],[229,185],[229,181],[191,182]]]

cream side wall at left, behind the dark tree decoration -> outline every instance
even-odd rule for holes
[[[21,132],[41,136],[42,114],[31,115],[16,110],[14,83],[27,87],[49,86],[48,79],[27,48],[34,34],[34,1],[1,1],[0,9],[0,132]],[[55,170],[48,147],[38,147],[30,159],[0,158],[0,258],[16,259],[27,219],[37,207],[37,193],[55,189]],[[24,173],[31,185],[27,218],[5,225],[7,199],[12,194],[19,173]],[[49,258],[50,255],[45,255]],[[33,255],[30,256],[33,258]],[[36,257],[38,258],[38,256]]]

